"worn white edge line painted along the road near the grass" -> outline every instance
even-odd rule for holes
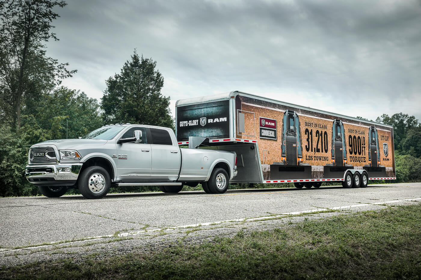
[[[37,249],[37,248],[46,248],[46,247],[54,247],[61,244],[75,244],[75,243],[81,243],[85,241],[93,241],[93,240],[101,240],[106,238],[118,238],[118,237],[128,237],[128,236],[135,236],[135,235],[143,235],[147,233],[152,232],[160,232],[160,231],[172,231],[172,230],[178,230],[178,229],[185,229],[190,227],[203,227],[203,226],[209,226],[209,225],[219,225],[224,223],[231,223],[231,222],[254,222],[254,221],[261,221],[266,219],[276,219],[280,217],[290,216],[290,215],[299,215],[299,214],[306,214],[306,213],[317,213],[317,212],[323,212],[323,211],[330,211],[330,210],[339,210],[339,209],[349,209],[354,207],[361,207],[361,206],[370,206],[373,204],[385,204],[385,203],[395,203],[395,202],[404,202],[404,201],[418,201],[421,200],[421,198],[413,198],[413,199],[403,199],[403,200],[392,200],[392,201],[384,201],[384,202],[376,202],[376,203],[361,203],[361,204],[355,204],[355,205],[348,205],[348,206],[338,206],[338,207],[331,207],[331,208],[317,208],[317,209],[311,209],[311,210],[304,210],[304,211],[296,211],[296,212],[288,212],[283,213],[279,215],[274,216],[266,216],[266,217],[257,217],[257,218],[241,218],[241,219],[233,219],[233,220],[224,220],[224,221],[218,221],[218,222],[208,222],[208,223],[201,223],[201,224],[192,224],[192,225],[184,225],[184,226],[178,226],[178,227],[169,227],[165,230],[163,229],[156,229],[156,230],[145,230],[145,231],[137,231],[137,232],[124,232],[119,233],[117,236],[114,234],[109,235],[99,235],[99,236],[92,236],[88,238],[84,238],[83,240],[76,240],[76,241],[69,241],[69,242],[63,242],[63,243],[56,243],[53,245],[34,245],[32,247],[26,247],[26,248],[19,248],[19,249],[6,249],[2,248],[2,251],[0,253],[8,253],[8,252],[16,252],[16,251],[23,251],[23,250],[31,250],[31,249]],[[56,241],[59,242],[59,241]],[[51,242],[54,243],[54,242]]]

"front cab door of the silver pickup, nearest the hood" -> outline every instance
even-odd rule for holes
[[[117,180],[141,181],[151,176],[152,151],[147,128],[131,127],[120,138],[131,138],[135,130],[142,132],[140,143],[117,144]]]

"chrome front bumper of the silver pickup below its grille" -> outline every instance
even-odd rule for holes
[[[82,163],[27,165],[25,177],[34,185],[72,186],[79,176]]]

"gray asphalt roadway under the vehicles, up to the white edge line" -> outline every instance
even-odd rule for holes
[[[421,183],[369,185],[359,189],[230,190],[223,195],[208,195],[203,191],[109,194],[99,200],[86,200],[81,195],[0,198],[0,246],[11,248],[117,231],[420,197]]]

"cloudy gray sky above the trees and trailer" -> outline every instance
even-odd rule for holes
[[[376,119],[421,119],[421,2],[67,0],[48,55],[101,98],[136,48],[175,101],[231,90]]]

